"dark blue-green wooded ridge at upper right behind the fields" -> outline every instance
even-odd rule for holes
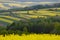
[[[39,4],[39,5],[33,5],[33,6],[30,6],[30,7],[25,7],[24,9],[25,10],[34,10],[34,9],[44,9],[44,8],[59,8],[60,7],[60,3],[54,3],[54,4],[45,4],[45,5],[42,5],[42,4]]]

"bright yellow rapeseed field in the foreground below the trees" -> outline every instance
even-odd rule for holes
[[[54,34],[30,34],[30,35],[0,35],[0,40],[60,40],[60,35]]]

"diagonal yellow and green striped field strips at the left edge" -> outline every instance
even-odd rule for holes
[[[8,24],[12,24],[14,21],[19,21],[19,18],[12,16],[0,15],[0,26],[7,26]]]

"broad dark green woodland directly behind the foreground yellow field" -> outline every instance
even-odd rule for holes
[[[60,16],[47,18],[31,18],[20,20],[8,25],[6,28],[0,28],[0,34],[29,34],[29,33],[47,33],[60,34]]]

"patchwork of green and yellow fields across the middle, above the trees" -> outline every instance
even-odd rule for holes
[[[54,9],[54,8],[53,8]],[[21,19],[38,18],[38,17],[48,17],[48,16],[60,16],[60,8],[57,11],[49,11],[49,9],[40,9],[38,11],[30,10],[28,11],[13,11],[12,13],[3,12],[0,13],[0,26],[7,26],[15,21]]]

